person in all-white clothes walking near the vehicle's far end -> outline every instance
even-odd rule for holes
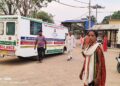
[[[67,61],[70,61],[72,59],[73,48],[76,46],[75,37],[72,34],[72,32],[69,32],[68,35],[66,36],[65,44],[67,47],[67,54],[68,54]]]

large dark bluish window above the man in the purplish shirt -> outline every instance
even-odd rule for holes
[[[37,35],[40,30],[42,30],[42,23],[33,22],[33,21],[30,22],[31,35]]]

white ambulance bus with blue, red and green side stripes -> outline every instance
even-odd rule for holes
[[[64,53],[66,27],[19,15],[0,16],[0,56],[36,56],[34,44],[40,30],[47,41],[45,54]]]

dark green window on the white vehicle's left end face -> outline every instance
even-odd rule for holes
[[[6,23],[6,34],[7,35],[15,35],[15,22],[7,22]]]

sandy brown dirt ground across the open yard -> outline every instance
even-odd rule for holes
[[[120,49],[109,49],[104,53],[106,86],[120,86],[115,59],[119,52]],[[67,54],[47,56],[43,63],[32,58],[0,58],[0,86],[83,86],[79,79],[83,60],[79,46],[74,49],[73,59],[69,62]]]

